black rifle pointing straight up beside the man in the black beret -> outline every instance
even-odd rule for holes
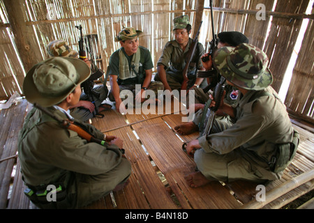
[[[211,7],[211,32],[213,33],[213,39],[211,42],[209,42],[209,53],[207,56],[202,57],[202,61],[206,62],[209,61],[209,56],[211,56],[211,59],[214,58],[214,52],[217,49],[218,45],[218,38],[217,35],[215,34],[215,29],[214,29],[214,16],[213,16],[213,6],[212,6],[212,0],[209,0],[210,7]],[[211,84],[207,85],[203,91],[204,93],[207,93],[210,89],[214,88],[216,84],[218,83],[218,72],[214,68],[211,68],[211,70],[197,70],[196,77],[199,78],[211,78]]]

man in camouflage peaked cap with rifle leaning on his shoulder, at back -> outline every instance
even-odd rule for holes
[[[187,15],[181,15],[174,18],[174,40],[166,43],[163,48],[163,53],[157,62],[158,73],[155,75],[155,80],[163,82],[165,90],[172,91],[180,90],[184,80],[183,70],[186,66],[186,57],[193,42],[189,37],[191,26]],[[201,56],[204,54],[202,43],[197,43],[195,54],[190,65],[193,68],[188,70],[188,87],[187,90],[200,86],[207,86],[206,79],[196,78],[196,70],[204,70],[202,67]]]

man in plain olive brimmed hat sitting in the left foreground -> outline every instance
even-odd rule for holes
[[[106,141],[103,146],[89,143],[33,107],[20,130],[18,152],[23,180],[31,192],[27,195],[39,208],[86,206],[120,188],[130,175],[130,163],[119,150],[123,141],[105,136],[93,125],[69,114],[70,105],[80,98],[80,84],[90,72],[80,59],[52,57],[33,66],[24,79],[23,91],[29,102],[45,107],[60,120],[73,121],[96,139]],[[95,175],[97,180],[91,177]],[[48,185],[56,186],[57,201],[49,202],[45,196],[37,195],[50,190]]]

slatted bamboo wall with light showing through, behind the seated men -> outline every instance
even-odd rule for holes
[[[213,0],[215,32],[241,31],[251,44],[263,49],[269,56],[269,68],[274,75],[272,86],[279,91],[308,2]],[[266,6],[266,20],[256,19],[258,3]],[[272,12],[274,3],[276,8]],[[49,9],[54,13],[47,14]],[[75,26],[79,24],[83,26],[84,35],[93,38],[91,50],[98,66],[104,71],[110,55],[120,47],[119,43],[114,42],[114,37],[124,26],[133,26],[144,32],[140,45],[150,49],[155,68],[163,46],[173,38],[174,17],[189,15],[190,22],[195,26],[194,33],[202,20],[199,40],[206,49],[212,39],[209,0],[15,0],[14,6],[10,0],[0,0],[0,13],[0,49],[4,53],[0,61],[0,98],[8,98],[14,91],[22,94],[24,70],[48,58],[45,46],[50,41],[66,40],[70,47],[78,51],[80,33]],[[269,15],[274,16],[271,18]],[[13,19],[17,22],[13,22]],[[314,58],[312,23],[313,16],[285,100],[291,112],[311,123]],[[25,33],[26,36],[22,35]]]

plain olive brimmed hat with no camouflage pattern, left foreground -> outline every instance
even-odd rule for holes
[[[27,72],[23,93],[31,103],[36,102],[43,107],[57,105],[89,75],[89,66],[80,59],[52,57],[37,63]]]

